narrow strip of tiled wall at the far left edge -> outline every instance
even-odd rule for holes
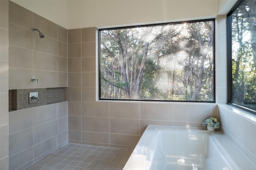
[[[8,170],[8,0],[0,0],[0,169]]]

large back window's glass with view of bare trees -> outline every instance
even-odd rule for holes
[[[214,102],[214,19],[100,29],[100,100]]]

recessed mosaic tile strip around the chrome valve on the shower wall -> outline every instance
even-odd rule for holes
[[[38,92],[40,100],[29,104],[29,93]],[[9,90],[9,111],[43,106],[64,101],[63,88],[36,88]]]

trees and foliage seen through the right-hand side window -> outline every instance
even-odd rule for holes
[[[246,7],[246,8],[245,8]],[[232,103],[256,110],[255,1],[232,14]],[[253,26],[254,25],[254,26]]]

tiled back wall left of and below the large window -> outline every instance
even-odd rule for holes
[[[68,30],[70,143],[133,149],[148,124],[201,127],[216,104],[96,101],[96,28]]]

